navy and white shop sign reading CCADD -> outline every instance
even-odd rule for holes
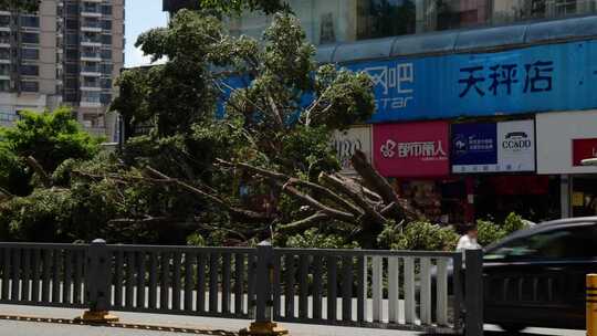
[[[534,120],[454,124],[452,172],[535,171]]]

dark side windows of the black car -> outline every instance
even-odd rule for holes
[[[597,258],[596,227],[563,228],[513,240],[485,254],[485,260]]]

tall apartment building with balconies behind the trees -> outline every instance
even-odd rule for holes
[[[0,124],[66,105],[87,130],[113,138],[106,111],[124,65],[124,6],[43,0],[36,13],[0,12]]]

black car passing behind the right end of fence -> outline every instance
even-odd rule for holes
[[[584,329],[588,273],[597,273],[597,217],[515,232],[485,249],[485,323]]]

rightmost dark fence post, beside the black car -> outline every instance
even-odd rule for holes
[[[483,250],[465,250],[464,329],[467,336],[483,335]]]

